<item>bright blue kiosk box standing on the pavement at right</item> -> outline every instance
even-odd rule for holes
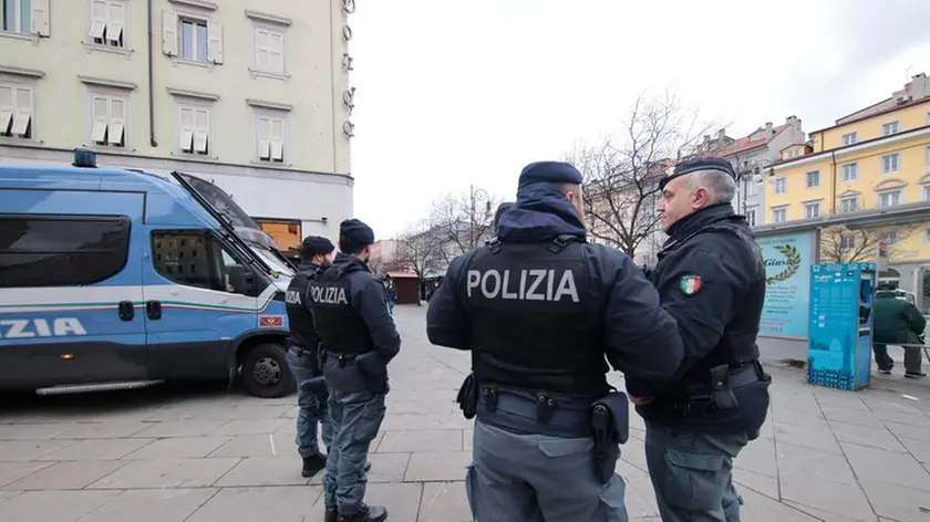
[[[807,382],[837,389],[869,385],[876,263],[810,267]]]

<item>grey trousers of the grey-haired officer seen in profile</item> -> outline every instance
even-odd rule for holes
[[[733,459],[748,434],[684,432],[645,425],[645,461],[662,522],[738,522]]]

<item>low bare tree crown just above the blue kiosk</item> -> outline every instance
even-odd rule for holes
[[[898,253],[898,244],[916,230],[913,225],[879,228],[849,228],[843,225],[820,230],[820,262],[856,263],[875,261],[879,248],[887,246],[888,258]]]

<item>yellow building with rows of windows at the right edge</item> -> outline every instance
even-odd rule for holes
[[[918,74],[891,97],[810,133],[807,144],[783,149],[782,160],[768,171],[765,191],[771,223],[862,216],[859,222],[844,226],[848,231],[839,237],[841,248],[836,250],[865,259],[837,261],[871,261],[879,244],[887,243],[889,279],[897,273],[901,288],[916,285],[908,281],[910,274],[930,263],[930,207],[910,222],[889,225],[887,218],[930,202],[927,75]],[[824,238],[822,232],[822,258]],[[869,241],[875,244],[864,244]]]

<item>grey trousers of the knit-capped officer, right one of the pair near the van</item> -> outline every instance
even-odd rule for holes
[[[323,501],[340,514],[364,508],[365,462],[371,441],[384,420],[384,395],[329,388],[333,441],[323,476]]]

